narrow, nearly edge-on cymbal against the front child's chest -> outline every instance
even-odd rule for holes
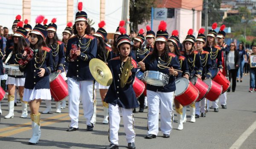
[[[125,87],[125,84],[128,81],[128,78],[130,77],[130,71],[131,71],[131,57],[128,57],[128,60],[125,62],[125,66],[122,69],[122,74],[121,74],[121,82],[120,85],[121,87]]]

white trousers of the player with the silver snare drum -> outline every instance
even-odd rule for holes
[[[158,119],[160,112],[161,132],[169,135],[173,124],[173,99],[175,92],[153,92],[147,90],[148,97],[148,135],[158,134]]]

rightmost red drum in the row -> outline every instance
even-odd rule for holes
[[[230,81],[217,69],[212,70],[212,72],[216,72],[216,75],[212,77],[212,80],[217,82],[222,86],[222,93],[226,92],[227,89],[230,87]]]

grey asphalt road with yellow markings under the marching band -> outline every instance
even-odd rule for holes
[[[177,130],[175,112],[174,129],[170,138],[162,138],[159,132],[155,139],[144,139],[147,134],[147,110],[135,113],[135,132],[137,149],[256,149],[256,92],[249,93],[249,76],[244,76],[242,83],[237,83],[236,92],[229,92],[227,109],[213,112],[209,109],[206,117],[190,123],[189,112],[183,130]],[[41,140],[37,145],[28,145],[32,135],[31,120],[20,118],[21,105],[15,107],[15,117],[1,118],[0,149],[104,149],[108,142],[108,125],[102,124],[103,109],[97,92],[97,122],[92,132],[86,131],[86,123],[80,105],[79,131],[66,132],[70,118],[68,109],[61,114],[55,113],[52,103],[51,114],[41,114]],[[219,104],[220,105],[220,104]],[[210,104],[211,106],[211,104]],[[8,114],[7,100],[1,101],[2,116]],[[45,108],[42,102],[40,111]],[[189,108],[187,108],[189,111]],[[138,111],[138,109],[137,109]],[[127,146],[122,119],[119,129],[119,148]]]

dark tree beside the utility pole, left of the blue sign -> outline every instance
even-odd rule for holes
[[[155,0],[130,0],[130,27],[138,31],[138,24],[145,23],[151,19],[151,7]]]

